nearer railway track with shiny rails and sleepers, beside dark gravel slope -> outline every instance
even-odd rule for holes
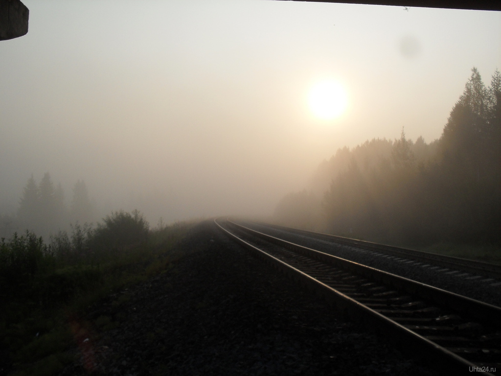
[[[501,374],[501,308],[287,242],[231,221],[229,237],[448,374]]]

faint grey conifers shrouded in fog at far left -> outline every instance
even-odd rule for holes
[[[14,232],[30,230],[47,238],[66,229],[69,223],[92,222],[94,208],[85,182],[78,180],[72,193],[68,206],[61,183],[55,185],[49,172],[39,183],[32,174],[24,187],[17,213],[2,217],[0,235],[10,237]]]

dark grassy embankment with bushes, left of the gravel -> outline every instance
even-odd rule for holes
[[[113,317],[95,322],[81,313],[113,291],[175,269],[183,255],[175,244],[194,223],[150,230],[138,212],[118,212],[97,228],[75,226],[44,243],[33,233],[0,244],[0,374],[51,375],[73,361],[68,349],[90,331],[120,324]]]

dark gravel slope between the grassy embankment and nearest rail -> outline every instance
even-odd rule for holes
[[[172,269],[89,308],[82,320],[94,328],[76,336],[77,361],[61,375],[438,374],[339,317],[211,221],[178,247],[187,256]]]

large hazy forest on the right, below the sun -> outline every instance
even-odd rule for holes
[[[501,241],[501,74],[476,68],[441,137],[339,149],[312,187],[286,195],[284,225],[408,246]]]

